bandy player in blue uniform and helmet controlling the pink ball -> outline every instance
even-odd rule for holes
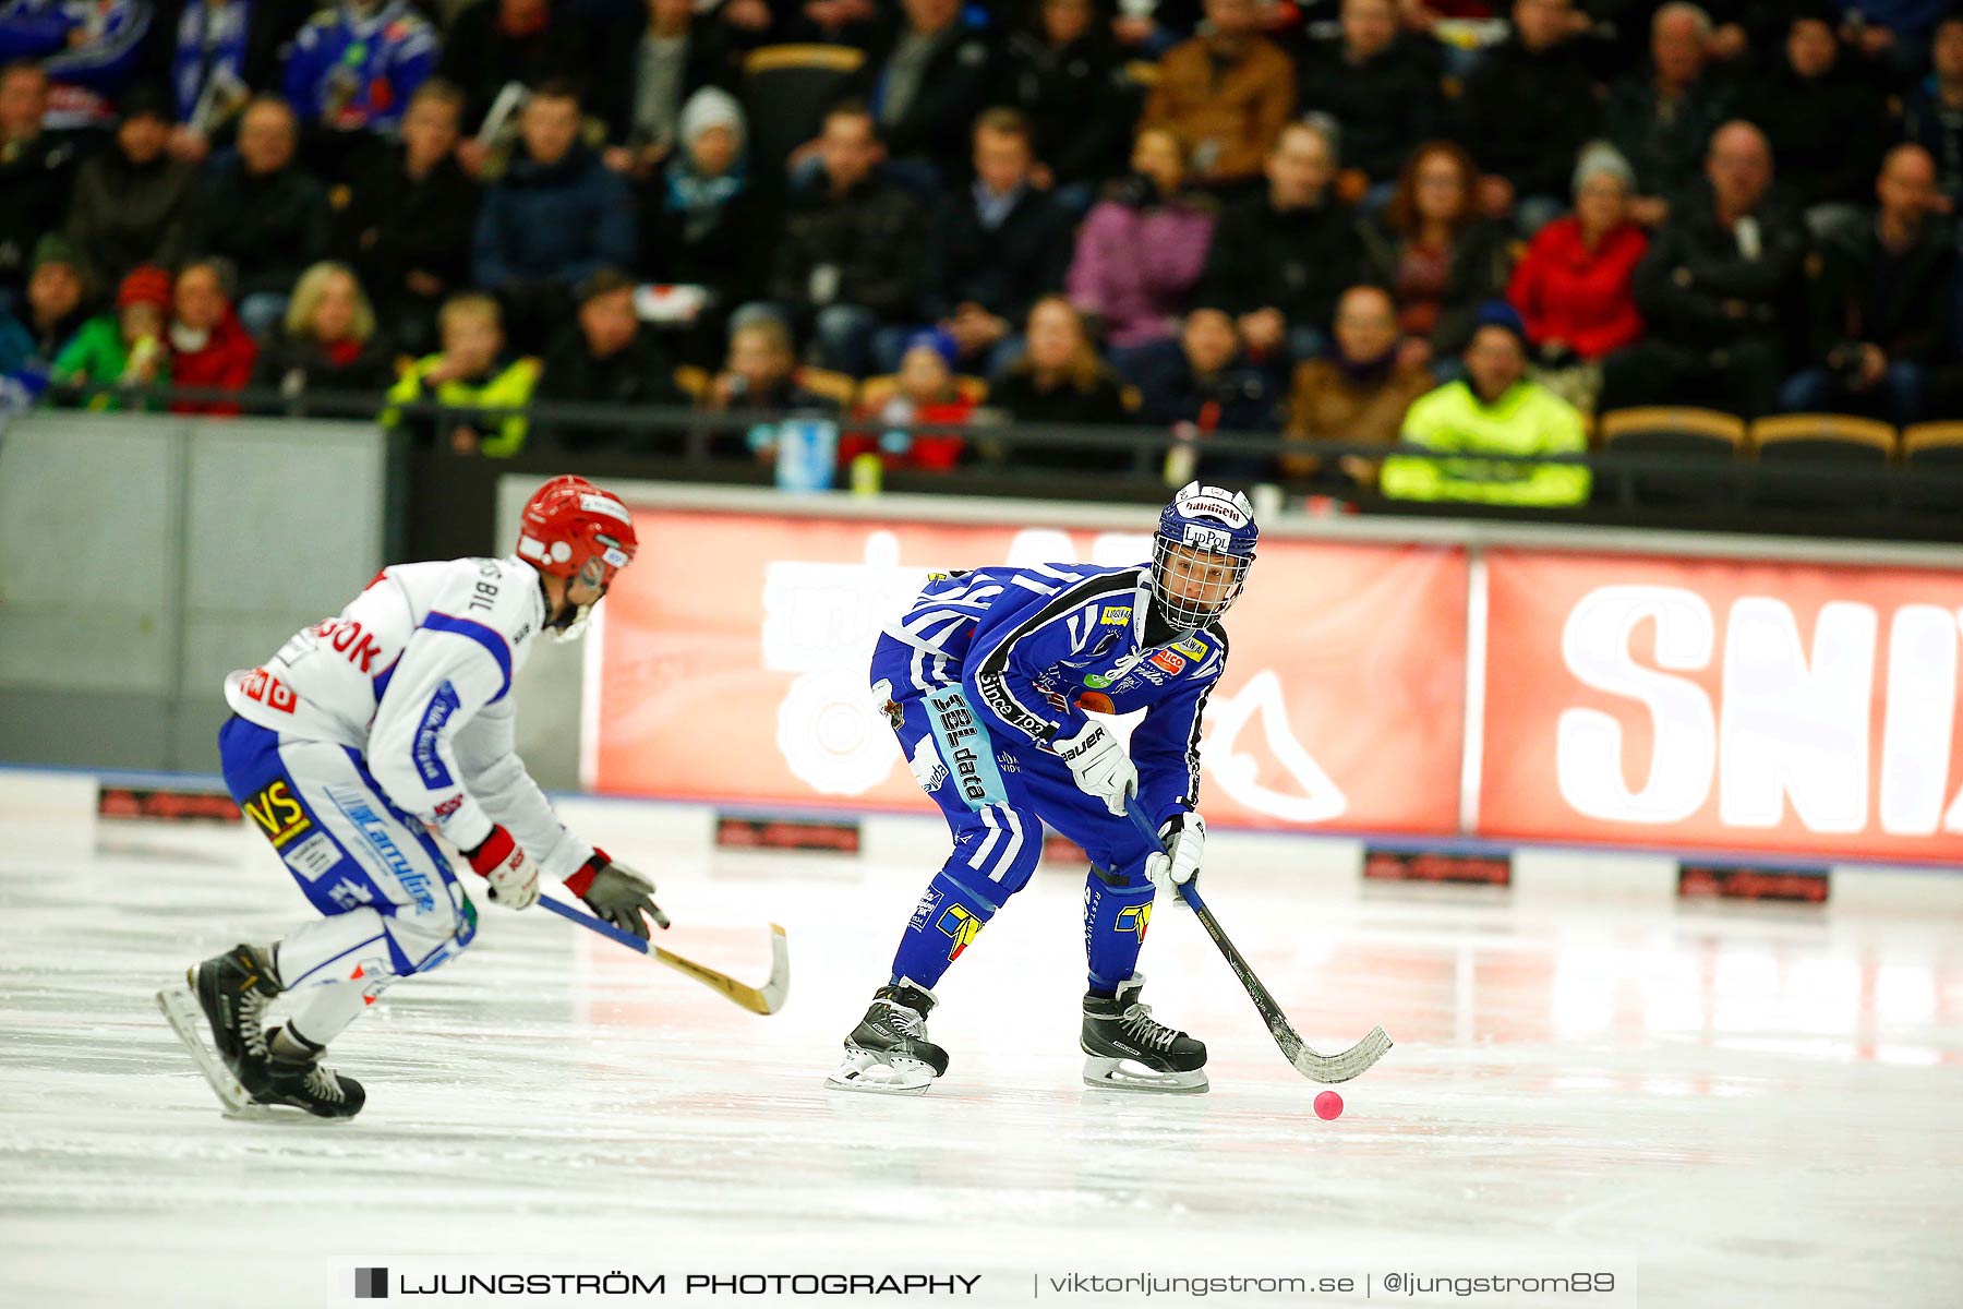
[[[1254,542],[1245,495],[1192,483],[1160,514],[1150,565],[936,573],[879,636],[874,697],[954,852],[826,1085],[915,1095],[948,1072],[948,1052],[927,1038],[932,987],[1029,883],[1048,822],[1091,858],[1084,1081],[1207,1089],[1207,1048],[1152,1021],[1137,964],[1154,891],[1199,873],[1199,718],[1227,667],[1219,618]],[[1139,708],[1129,752],[1086,714]],[[1133,797],[1164,850],[1127,816]]]

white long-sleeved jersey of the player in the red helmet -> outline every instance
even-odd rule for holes
[[[567,877],[593,856],[559,822],[514,750],[510,679],[546,622],[538,573],[516,555],[398,563],[338,618],[261,667],[226,677],[236,714],[283,738],[363,758],[381,791],[459,850],[503,824]]]

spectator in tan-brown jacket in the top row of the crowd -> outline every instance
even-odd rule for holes
[[[1296,112],[1296,61],[1260,35],[1254,0],[1207,0],[1205,35],[1166,51],[1141,128],[1166,128],[1188,149],[1192,181],[1260,179]]]

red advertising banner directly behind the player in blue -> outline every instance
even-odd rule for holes
[[[930,569],[1150,555],[1144,532],[901,518],[638,508],[634,528],[642,567],[587,675],[587,785],[775,809],[928,805],[866,669]],[[1262,542],[1207,703],[1207,818],[1455,832],[1464,604],[1457,548]]]

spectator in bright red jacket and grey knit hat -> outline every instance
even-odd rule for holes
[[[1584,149],[1574,212],[1541,228],[1506,290],[1539,381],[1580,410],[1594,408],[1600,359],[1643,336],[1631,283],[1649,237],[1629,218],[1633,194],[1635,173],[1614,147]]]

